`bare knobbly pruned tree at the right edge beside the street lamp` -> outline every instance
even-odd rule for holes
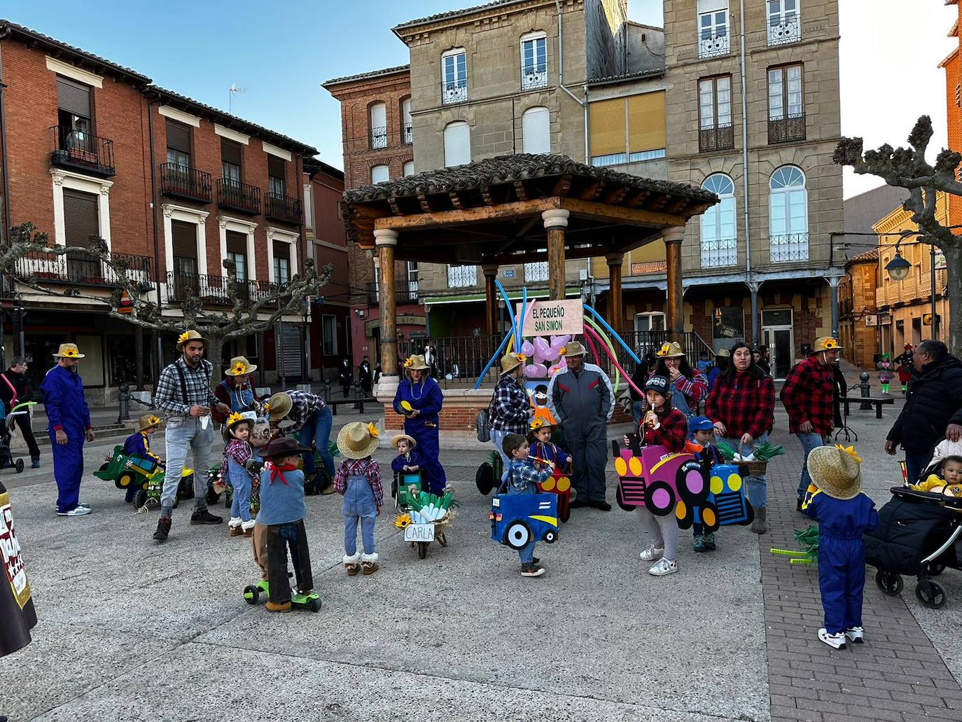
[[[934,244],[946,256],[949,349],[957,354],[962,351],[962,229],[950,228],[936,219],[936,193],[962,196],[962,182],[956,174],[962,154],[943,149],[931,166],[925,161],[931,140],[932,120],[922,116],[908,137],[909,148],[893,149],[886,143],[863,152],[861,138],[843,138],[833,160],[840,166],[851,166],[856,173],[871,173],[890,186],[908,190],[902,208],[912,214],[912,222],[923,233],[923,242]]]

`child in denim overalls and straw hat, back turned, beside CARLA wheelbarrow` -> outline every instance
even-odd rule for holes
[[[370,454],[377,449],[377,427],[354,422],[338,434],[338,451],[344,461],[334,476],[334,490],[344,498],[344,569],[349,577],[363,570],[367,576],[377,571],[374,551],[374,522],[384,505],[381,467]],[[364,553],[358,553],[358,526]]]

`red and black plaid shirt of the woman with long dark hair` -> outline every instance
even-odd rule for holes
[[[731,381],[720,375],[705,401],[705,416],[722,422],[729,439],[745,434],[757,439],[772,428],[775,413],[775,384],[772,376],[751,378],[747,372],[737,373]]]

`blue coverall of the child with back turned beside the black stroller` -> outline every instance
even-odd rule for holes
[[[825,632],[838,634],[862,626],[865,542],[862,534],[878,526],[875,503],[865,494],[843,501],[809,486],[801,510],[819,523],[819,589]]]

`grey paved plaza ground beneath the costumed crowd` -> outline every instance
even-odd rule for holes
[[[882,451],[885,418],[853,411],[866,491],[878,505],[899,481]],[[343,418],[339,425],[345,421]],[[337,496],[308,499],[321,612],[268,614],[241,599],[257,579],[249,540],[190,527],[151,540],[157,511],[134,514],[92,477],[74,519],[53,513],[49,466],[11,486],[34,589],[34,643],[0,659],[0,713],[21,720],[923,720],[962,719],[962,573],[943,576],[947,606],[865,594],[867,643],[835,651],[817,571],[790,567],[800,449],[779,405],[771,532],[725,528],[695,554],[682,531],[678,574],[638,558],[633,513],[575,509],[559,541],[539,545],[547,573],[522,579],[518,556],[489,539],[474,489],[484,451],[444,450],[462,503],[446,549],[418,560],[378,520],[381,570],[345,576]],[[89,445],[95,468],[113,441]],[[163,450],[163,444],[156,444]],[[390,451],[377,454],[387,468]],[[44,451],[44,462],[49,456]],[[609,465],[609,470],[611,469]],[[615,477],[609,471],[609,498]]]

